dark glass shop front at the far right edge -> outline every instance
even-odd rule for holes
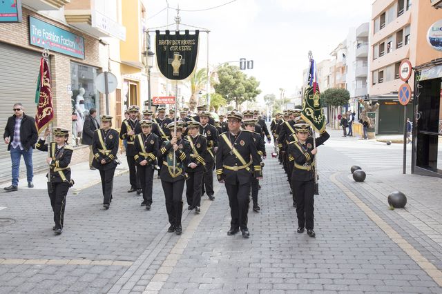
[[[415,70],[412,173],[442,177],[442,59]]]

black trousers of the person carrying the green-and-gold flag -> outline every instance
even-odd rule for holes
[[[298,226],[313,230],[314,227],[314,179],[307,182],[293,181],[294,195],[296,199],[296,215]]]

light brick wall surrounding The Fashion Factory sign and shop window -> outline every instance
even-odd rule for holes
[[[50,52],[50,66],[52,74],[52,102],[54,104],[55,120],[54,126],[72,129],[72,104],[68,86],[70,85],[70,62],[77,62],[86,66],[95,66],[100,68],[99,63],[99,40],[90,37],[82,32],[74,30],[69,26],[48,19],[37,12],[32,12],[23,8],[23,21],[21,23],[2,23],[0,26],[0,42],[11,45],[28,48],[41,52],[43,48],[30,45],[29,39],[29,16],[36,17],[50,23],[58,28],[68,30],[75,35],[84,37],[85,59],[77,59],[58,52]],[[100,95],[100,110],[105,109],[104,96]],[[72,134],[70,134],[72,136]],[[73,153],[71,164],[77,164],[81,161],[87,161],[89,156],[88,146],[76,147]]]

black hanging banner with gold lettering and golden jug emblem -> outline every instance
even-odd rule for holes
[[[159,30],[155,32],[157,65],[164,77],[181,80],[191,75],[198,57],[199,33],[198,30],[192,35],[189,30],[184,34],[177,31],[174,35],[169,30],[165,34],[160,34]]]

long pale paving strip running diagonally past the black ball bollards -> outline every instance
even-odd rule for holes
[[[381,217],[379,217],[371,208],[367,206],[361,199],[359,199],[349,188],[344,186],[341,182],[339,182],[336,179],[336,175],[338,173],[335,173],[334,175],[331,175],[329,179],[342,190],[349,199],[354,202],[363,212],[372,219],[372,221],[381,228],[382,231],[384,231],[385,234],[387,234],[390,239],[394,243],[396,243],[399,247],[402,248],[402,250],[407,253],[408,256],[411,257],[411,259],[418,264],[423,271],[425,271],[433,280],[438,284],[439,286],[442,286],[442,271],[439,271],[434,264],[432,264],[428,259],[426,259],[419,251],[416,250],[412,246],[412,244],[408,243],[407,240],[405,240],[399,233],[397,233],[392,226],[387,224]]]

